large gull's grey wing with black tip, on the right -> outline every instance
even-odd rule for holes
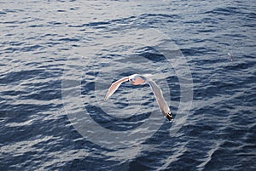
[[[154,98],[159,105],[160,111],[167,117],[169,121],[172,121],[171,110],[166,100],[164,99],[162,90],[151,78],[147,77],[147,81],[153,90]]]

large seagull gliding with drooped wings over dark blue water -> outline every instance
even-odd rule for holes
[[[132,85],[140,85],[144,83],[148,83],[150,87],[152,88],[152,91],[154,93],[154,98],[159,105],[160,111],[162,114],[170,121],[172,122],[172,115],[171,110],[164,99],[162,90],[160,87],[150,78],[148,75],[139,75],[139,74],[133,74],[129,77],[123,77],[119,79],[118,81],[111,84],[110,88],[108,88],[108,93],[105,96],[105,101],[108,100],[108,98],[119,88],[121,83],[129,81]]]

